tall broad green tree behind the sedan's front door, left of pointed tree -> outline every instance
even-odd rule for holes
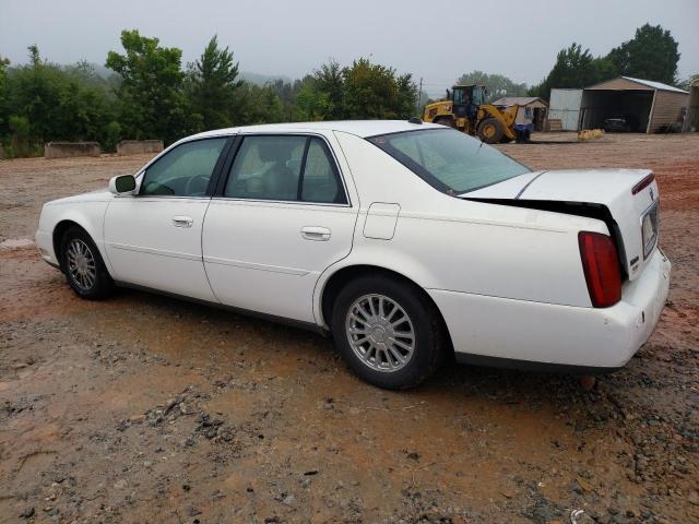
[[[125,134],[168,144],[188,134],[182,51],[162,47],[158,38],[141,36],[138,29],[122,31],[121,45],[126,53],[109,51],[106,67],[121,76],[117,95]]]

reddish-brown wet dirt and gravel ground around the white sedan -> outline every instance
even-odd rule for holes
[[[40,205],[147,158],[0,162],[0,522],[699,522],[699,135],[501,148],[657,176],[671,297],[590,392],[450,365],[391,393],[318,335],[131,290],[82,301],[28,240]]]

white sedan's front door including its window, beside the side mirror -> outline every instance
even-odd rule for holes
[[[117,195],[104,222],[114,277],[215,301],[201,252],[210,186],[228,138],[181,143],[145,168],[137,195]],[[221,159],[221,163],[220,163]]]

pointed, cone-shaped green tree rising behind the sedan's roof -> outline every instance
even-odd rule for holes
[[[189,102],[191,111],[201,115],[204,129],[220,129],[232,126],[239,115],[239,90],[242,81],[238,78],[238,62],[233,51],[221,49],[214,36],[202,56],[190,64]]]

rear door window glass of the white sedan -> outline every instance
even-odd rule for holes
[[[246,136],[230,167],[224,196],[345,204],[340,172],[315,136]]]

